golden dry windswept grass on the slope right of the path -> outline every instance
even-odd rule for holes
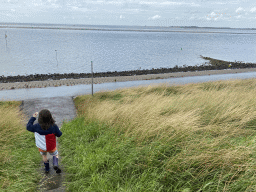
[[[246,79],[128,88],[76,101],[81,116],[107,122],[138,143],[175,141],[182,152],[169,165],[198,164],[192,174],[201,177],[221,167],[255,170],[255,95],[256,80]]]

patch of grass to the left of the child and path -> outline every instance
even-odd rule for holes
[[[0,101],[0,191],[35,191],[41,156],[26,130],[21,102]]]

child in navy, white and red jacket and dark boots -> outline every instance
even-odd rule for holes
[[[27,130],[35,133],[36,146],[38,147],[44,161],[45,172],[49,173],[49,160],[47,159],[47,152],[53,155],[53,168],[56,173],[61,173],[58,167],[58,150],[56,148],[56,136],[60,137],[62,132],[59,127],[54,124],[51,112],[43,109],[39,113],[38,123],[33,125],[36,120],[38,112],[33,114],[27,124]]]

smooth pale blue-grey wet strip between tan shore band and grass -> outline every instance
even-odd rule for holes
[[[170,79],[158,80],[142,80],[142,81],[127,81],[115,83],[103,83],[93,85],[93,91],[111,91],[122,88],[129,88],[135,86],[149,86],[159,83],[167,83],[169,85],[184,85],[188,83],[201,83],[218,80],[231,79],[249,79],[256,78],[256,72],[236,73],[236,74],[220,74],[220,75],[206,75],[194,77],[179,77]],[[16,89],[16,90],[2,90],[0,91],[0,101],[22,101],[27,99],[47,98],[47,97],[71,97],[79,95],[91,94],[91,85],[75,85],[75,86],[60,86],[60,87],[46,87],[46,88],[32,88],[32,89]]]

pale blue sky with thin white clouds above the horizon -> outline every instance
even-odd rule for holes
[[[256,28],[256,0],[0,0],[0,22]]]

